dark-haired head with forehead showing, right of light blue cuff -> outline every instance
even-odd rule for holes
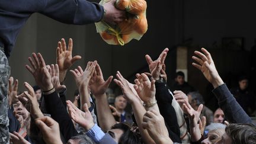
[[[133,132],[131,127],[126,123],[114,124],[111,130],[108,130],[108,134],[118,144],[142,143],[139,133]]]

